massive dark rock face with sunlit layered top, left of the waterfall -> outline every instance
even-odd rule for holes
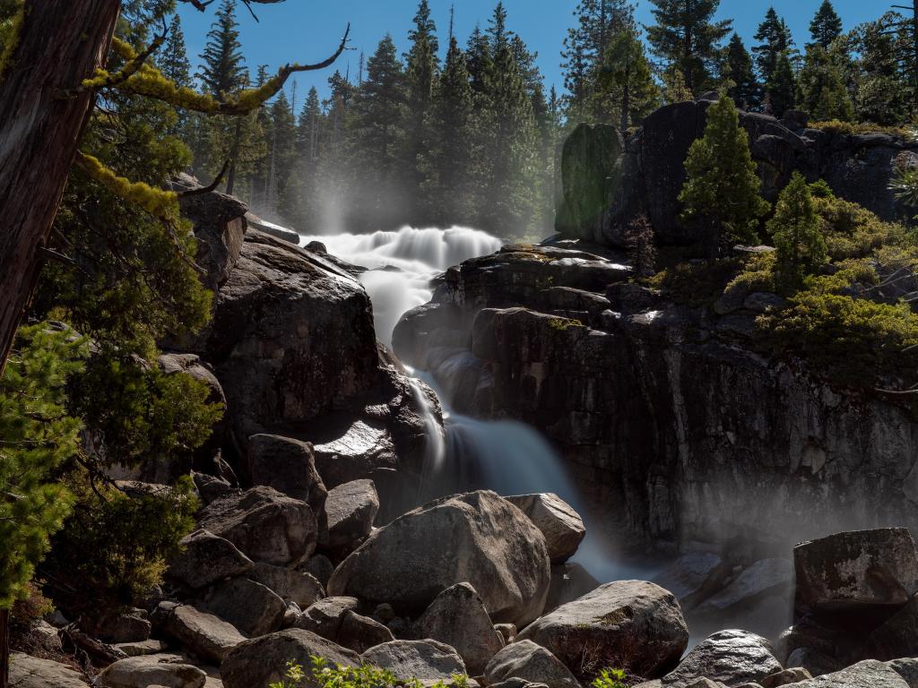
[[[264,428],[308,421],[378,383],[370,299],[317,254],[250,231],[219,290],[207,360],[244,448]]]

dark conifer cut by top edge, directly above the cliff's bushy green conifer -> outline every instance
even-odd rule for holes
[[[701,94],[712,85],[711,75],[721,57],[721,42],[730,33],[731,19],[713,21],[721,0],[651,0],[656,23],[647,27],[653,53],[675,66],[686,87]]]

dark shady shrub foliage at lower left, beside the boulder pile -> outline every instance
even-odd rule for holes
[[[195,527],[191,478],[151,492],[93,484],[82,472],[67,483],[76,495],[73,516],[40,568],[52,598],[68,614],[90,619],[140,604]]]

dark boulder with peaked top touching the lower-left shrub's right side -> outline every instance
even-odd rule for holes
[[[189,588],[206,588],[226,578],[252,570],[252,560],[228,539],[199,528],[185,536],[182,551],[169,562],[169,578]]]

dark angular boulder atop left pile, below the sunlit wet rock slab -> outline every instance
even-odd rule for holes
[[[249,480],[306,502],[321,514],[328,491],[316,471],[312,445],[280,435],[252,435],[246,455]]]

